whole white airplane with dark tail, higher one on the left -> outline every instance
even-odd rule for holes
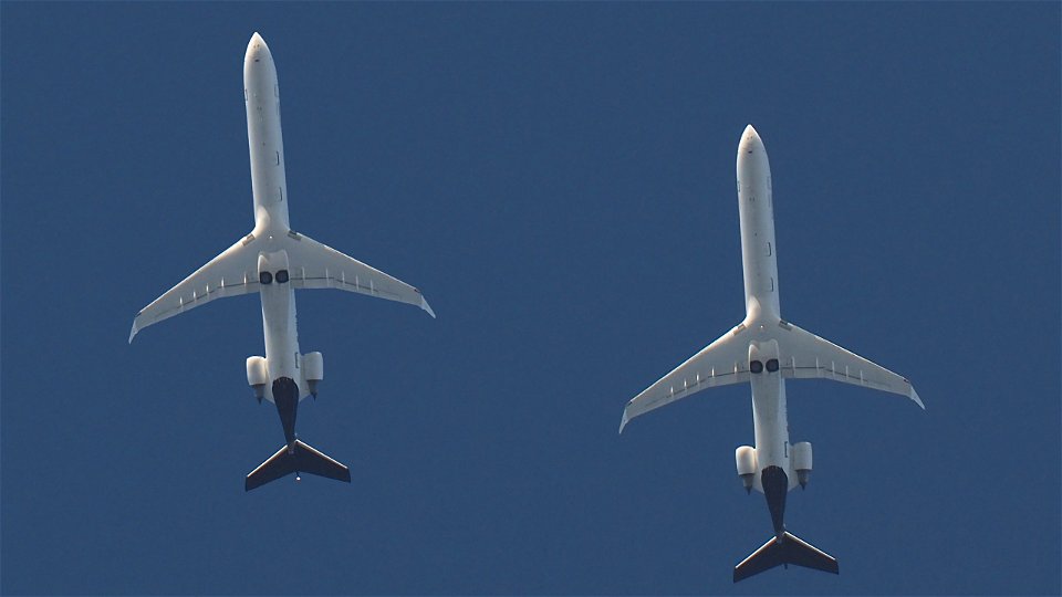
[[[133,320],[136,333],[215,298],[257,292],[262,297],[266,357],[247,359],[247,381],[259,404],[277,405],[285,443],[247,475],[250,491],[300,472],[351,482],[350,470],[295,437],[299,401],[317,396],[324,379],[321,353],[302,354],[295,331],[295,289],[339,289],[417,305],[435,317],[417,289],[295,232],[288,223],[280,87],[269,46],[254,33],[243,56],[243,101],[251,150],[254,229]]]

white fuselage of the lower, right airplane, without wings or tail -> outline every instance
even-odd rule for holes
[[[778,301],[778,245],[774,242],[774,203],[771,196],[771,165],[767,149],[752,125],[738,144],[738,212],[741,219],[741,264],[745,271],[745,325],[751,332],[749,362],[764,365],[779,358],[773,339],[781,308]],[[752,425],[759,472],[780,467],[789,475],[789,489],[796,486],[796,474],[789,459],[789,420],[785,407],[785,380],[780,371],[751,376]],[[763,491],[760,474],[753,486]]]

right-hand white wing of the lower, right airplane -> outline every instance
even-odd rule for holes
[[[821,378],[906,396],[925,410],[906,377],[791,323],[781,322],[778,335],[782,377]]]

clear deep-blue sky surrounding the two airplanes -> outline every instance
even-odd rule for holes
[[[283,441],[257,296],[126,344],[252,226],[242,60],[280,77],[295,230],[420,287],[300,292]],[[1060,6],[2,6],[4,594],[1058,594]],[[791,531],[750,392],[616,433],[743,317],[735,159],[774,181],[783,315],[915,384],[789,384]]]

